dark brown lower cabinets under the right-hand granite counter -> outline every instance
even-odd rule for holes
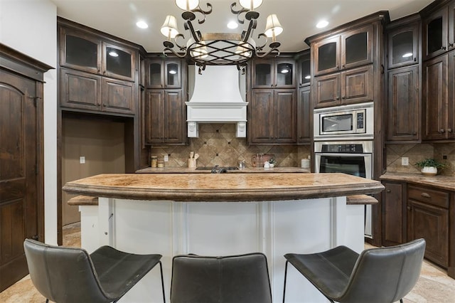
[[[382,180],[382,245],[427,241],[425,258],[455,279],[455,191]]]

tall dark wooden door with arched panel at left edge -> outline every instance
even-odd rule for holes
[[[35,97],[34,80],[0,70],[0,292],[28,274],[23,240],[38,239]]]

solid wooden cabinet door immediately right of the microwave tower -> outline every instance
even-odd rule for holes
[[[387,141],[419,140],[419,67],[388,73]]]

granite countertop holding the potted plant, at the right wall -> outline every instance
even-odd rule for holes
[[[380,176],[380,179],[387,181],[402,181],[425,186],[433,186],[435,188],[446,189],[448,191],[455,191],[454,176],[424,176],[422,174],[387,172]]]

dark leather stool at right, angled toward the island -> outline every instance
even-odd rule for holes
[[[346,246],[309,255],[289,253],[284,255],[283,302],[288,262],[331,302],[402,302],[419,279],[424,252],[425,240],[418,239],[360,255]]]

